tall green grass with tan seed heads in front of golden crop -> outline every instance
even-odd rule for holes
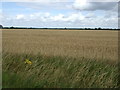
[[[3,88],[114,88],[117,76],[109,60],[3,53]]]

